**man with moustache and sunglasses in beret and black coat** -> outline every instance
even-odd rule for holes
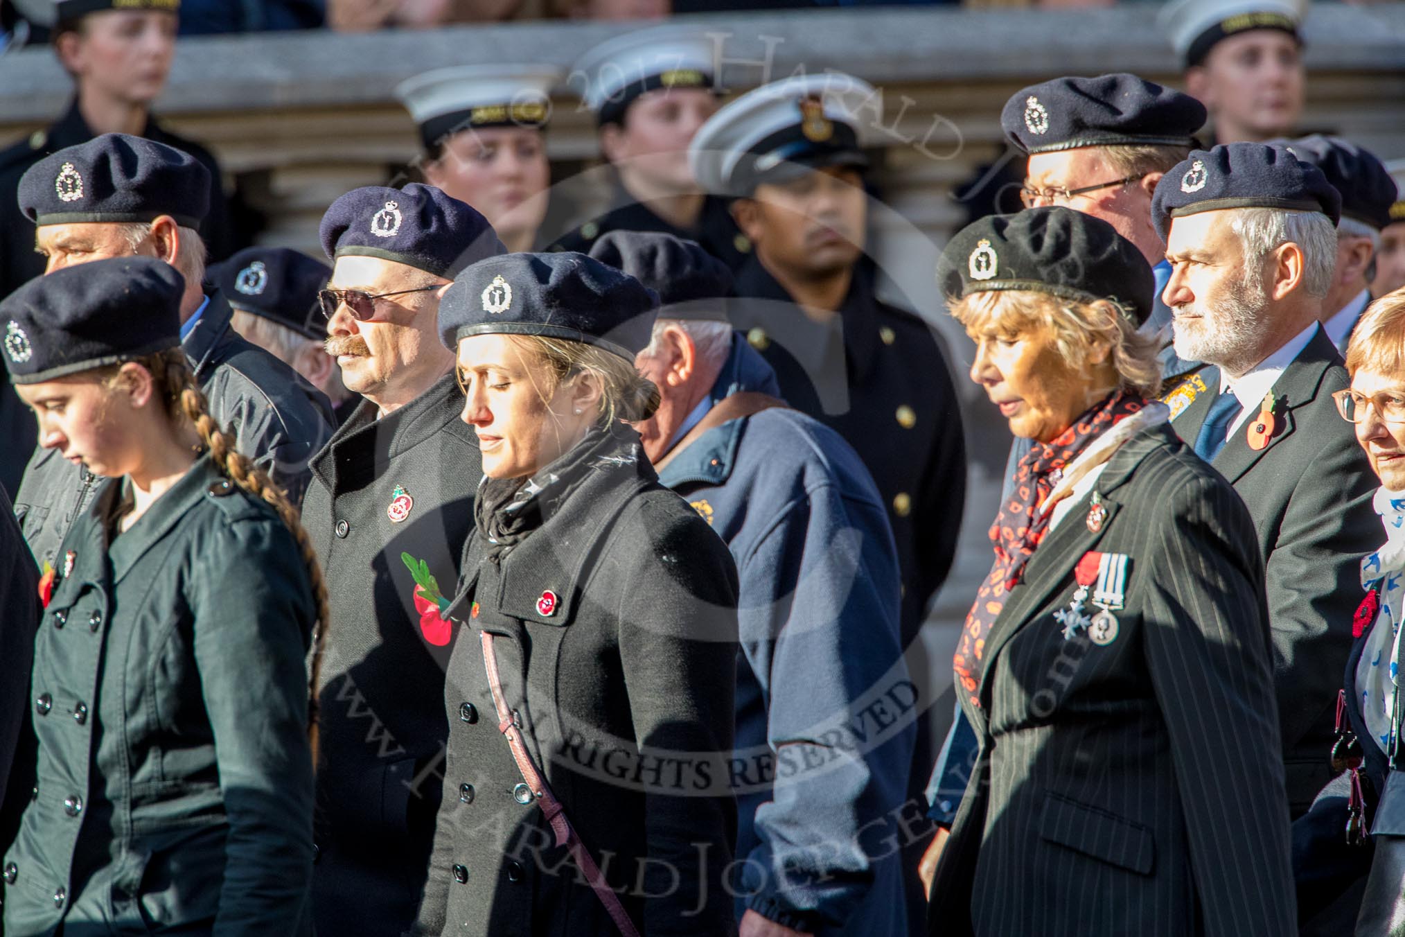
[[[333,264],[318,294],[326,350],[364,400],[312,459],[302,514],[337,622],[315,688],[313,917],[323,934],[399,934],[429,868],[452,650],[448,624],[414,593],[458,579],[482,478],[438,294],[504,247],[478,211],[419,183],[341,195],[320,237]]]

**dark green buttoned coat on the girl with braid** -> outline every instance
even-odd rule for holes
[[[308,575],[208,458],[110,541],[103,483],[35,639],[4,933],[294,934],[312,875]]]

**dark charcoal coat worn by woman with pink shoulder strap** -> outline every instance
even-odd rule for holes
[[[726,545],[641,461],[580,482],[500,566],[481,546],[475,531],[448,610],[461,622],[444,687],[448,773],[417,933],[615,933],[530,794],[514,797],[521,775],[497,730],[481,631],[502,635],[495,652],[532,759],[639,931],[733,933],[721,885],[736,836]],[[547,590],[558,600],[542,612]]]

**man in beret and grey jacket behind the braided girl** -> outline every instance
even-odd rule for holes
[[[308,459],[332,435],[332,403],[296,371],[232,327],[223,294],[205,284],[201,222],[209,171],[173,146],[104,133],[48,156],[20,180],[20,209],[34,225],[45,275],[112,257],[156,257],[185,278],[181,348],[239,452],[264,469],[296,507]],[[32,437],[30,437],[32,440]],[[24,437],[17,445],[27,445]],[[55,563],[97,480],[81,465],[37,447],[15,494],[15,514],[35,561]]]

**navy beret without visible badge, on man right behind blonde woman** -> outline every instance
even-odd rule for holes
[[[659,316],[726,322],[732,271],[701,244],[662,232],[611,230],[590,244],[590,256],[629,274],[659,294]]]

